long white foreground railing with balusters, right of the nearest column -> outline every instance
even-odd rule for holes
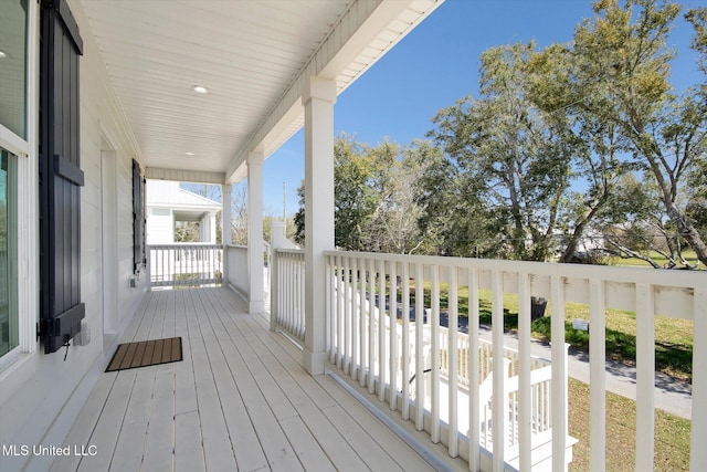
[[[694,365],[707,361],[707,348],[700,343],[707,339],[705,273],[338,251],[325,255],[329,272],[325,291],[329,311],[326,345],[330,361],[370,394],[377,394],[392,410],[399,410],[404,420],[428,431],[432,442],[444,443],[452,457],[468,460],[471,470],[506,466],[524,471],[536,466],[564,470],[571,459],[564,302],[587,304],[590,310],[592,470],[605,468],[605,308],[636,313],[636,470],[653,469],[654,317],[694,319]],[[424,296],[414,296],[420,295],[414,287],[425,287]],[[465,348],[465,335],[456,329],[446,331],[439,324],[444,310],[449,326],[457,325],[462,290],[469,293],[464,314],[469,319],[478,319],[481,289],[492,291],[493,345],[486,352]],[[446,302],[441,297],[443,291]],[[483,366],[488,358],[506,357],[503,346],[505,293],[518,294],[517,357],[493,363],[484,380],[485,374],[477,366]],[[552,363],[549,368],[539,367],[530,355],[531,295],[551,302]],[[371,303],[376,296],[380,303]],[[420,316],[424,298],[431,306],[429,326]],[[411,306],[418,315],[414,321],[410,321]],[[477,323],[469,323],[468,339],[478,339]],[[432,358],[441,360],[433,363]],[[488,367],[486,369],[488,371]],[[415,381],[411,381],[413,376]],[[421,378],[425,381],[416,381]],[[458,392],[464,389],[469,390],[464,400],[468,401],[467,408],[460,405],[463,397]],[[488,390],[488,408],[472,400]],[[707,443],[706,394],[707,371],[694,369],[693,470],[704,464],[700,461],[705,448],[700,444]],[[416,407],[418,399],[422,408]],[[460,420],[462,416],[467,416],[463,422],[472,426],[466,431]],[[551,442],[538,448],[538,436],[542,432]],[[485,445],[490,449],[490,459],[482,454]],[[548,459],[540,463],[545,457]]]

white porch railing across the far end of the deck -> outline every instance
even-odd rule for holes
[[[150,286],[193,286],[223,281],[220,244],[155,244],[147,247]]]

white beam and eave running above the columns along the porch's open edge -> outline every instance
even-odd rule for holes
[[[246,175],[249,153],[275,151],[304,124],[302,95],[312,76],[334,80],[337,94],[434,11],[444,0],[356,0],[229,166],[228,182]]]

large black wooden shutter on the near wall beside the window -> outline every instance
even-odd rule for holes
[[[83,42],[65,0],[42,0],[40,57],[41,319],[44,353],[81,331],[78,56]]]

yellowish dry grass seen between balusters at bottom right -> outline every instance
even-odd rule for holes
[[[569,431],[574,445],[570,471],[589,470],[589,386],[569,381]],[[636,405],[627,398],[606,392],[606,470],[635,470]],[[689,470],[690,421],[655,410],[656,471]]]

